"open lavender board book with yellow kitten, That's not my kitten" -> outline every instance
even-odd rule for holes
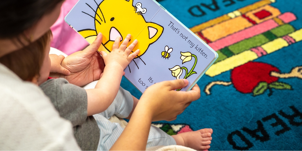
[[[178,90],[188,91],[218,58],[212,48],[153,0],[79,0],[65,21],[90,44],[102,33],[98,51],[110,53],[117,36],[124,39],[131,34],[129,44],[137,39],[133,50],[140,53],[124,71],[140,92],[174,79],[188,79],[188,86]]]

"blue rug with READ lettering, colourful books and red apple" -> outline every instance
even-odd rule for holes
[[[219,58],[197,82],[201,98],[154,125],[170,135],[212,128],[210,150],[302,150],[302,1],[158,2]]]

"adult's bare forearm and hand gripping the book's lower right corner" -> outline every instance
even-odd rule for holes
[[[200,98],[198,85],[188,92],[175,91],[186,85],[187,80],[177,79],[147,88],[129,123],[110,150],[145,150],[152,121],[175,120],[192,101]]]

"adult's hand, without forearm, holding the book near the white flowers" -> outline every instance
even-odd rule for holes
[[[156,83],[143,93],[140,98],[144,106],[148,106],[152,121],[175,120],[192,101],[200,98],[200,89],[196,84],[190,91],[175,91],[188,85],[187,79],[177,79]]]

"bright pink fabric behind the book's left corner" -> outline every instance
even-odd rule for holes
[[[76,5],[77,0],[66,0],[62,7],[58,20],[50,27],[53,32],[53,41],[50,46],[70,55],[83,50],[89,43],[64,20],[69,11]]]

